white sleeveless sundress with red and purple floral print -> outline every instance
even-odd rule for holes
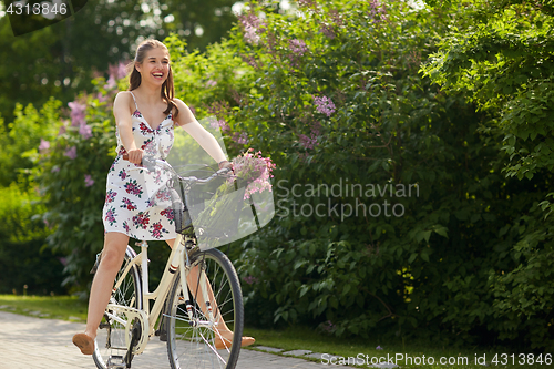
[[[136,110],[133,113],[133,135],[144,154],[165,160],[174,142],[174,121],[170,113],[153,130]],[[126,153],[119,134],[117,156],[107,172],[106,197],[102,218],[105,232],[119,232],[135,239],[175,238],[175,224],[167,191],[167,175],[123,160]]]

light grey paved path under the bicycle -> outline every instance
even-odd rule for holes
[[[40,319],[0,311],[0,369],[94,369],[92,358],[71,342],[84,325]],[[133,359],[133,369],[168,369],[165,342],[153,339],[146,351]],[[322,369],[297,358],[242,350],[237,369]]]

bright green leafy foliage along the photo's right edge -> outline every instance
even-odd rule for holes
[[[461,11],[443,4],[442,10],[450,8],[455,18],[451,17],[450,31],[423,71],[443,91],[465,95],[486,113],[482,130],[503,139],[501,151],[507,160],[501,164],[506,177],[548,191],[554,170],[553,3],[478,0],[464,4]],[[516,267],[491,276],[494,306],[502,314],[544,316],[552,324],[552,195],[537,191],[530,213],[501,229],[501,234],[521,235],[512,249]],[[510,329],[511,337],[516,330]]]

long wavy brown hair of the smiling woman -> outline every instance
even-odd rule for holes
[[[141,73],[135,68],[135,63],[141,63],[144,61],[144,58],[146,58],[146,52],[148,50],[152,50],[154,48],[164,48],[167,50],[165,44],[157,40],[144,40],[141,42],[138,48],[136,48],[136,55],[135,60],[132,61],[129,64],[129,69],[133,69],[131,72],[131,75],[129,78],[129,91],[133,91],[137,89],[141,85]],[[175,96],[175,86],[173,85],[173,72],[172,72],[172,65],[170,63],[170,73],[167,73],[167,79],[164,81],[162,84],[162,99],[167,101],[167,109],[164,111],[164,114],[170,114],[173,107],[175,107],[175,114],[173,115],[174,117],[178,115],[178,109],[175,102],[173,101]]]

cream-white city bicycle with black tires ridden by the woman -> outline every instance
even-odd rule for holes
[[[152,293],[147,243],[137,244],[140,254],[127,246],[99,327],[93,360],[99,369],[131,368],[133,357],[142,353],[148,340],[157,336],[167,342],[172,369],[234,369],[244,325],[238,276],[225,254],[216,248],[203,250],[197,245],[186,206],[193,185],[207,184],[229,170],[199,180],[179,176],[164,161],[148,163],[144,158],[143,165],[165,165],[171,171],[167,188],[177,238],[160,284]],[[100,254],[96,265],[99,257]],[[222,335],[229,330],[234,332],[232,342]]]

